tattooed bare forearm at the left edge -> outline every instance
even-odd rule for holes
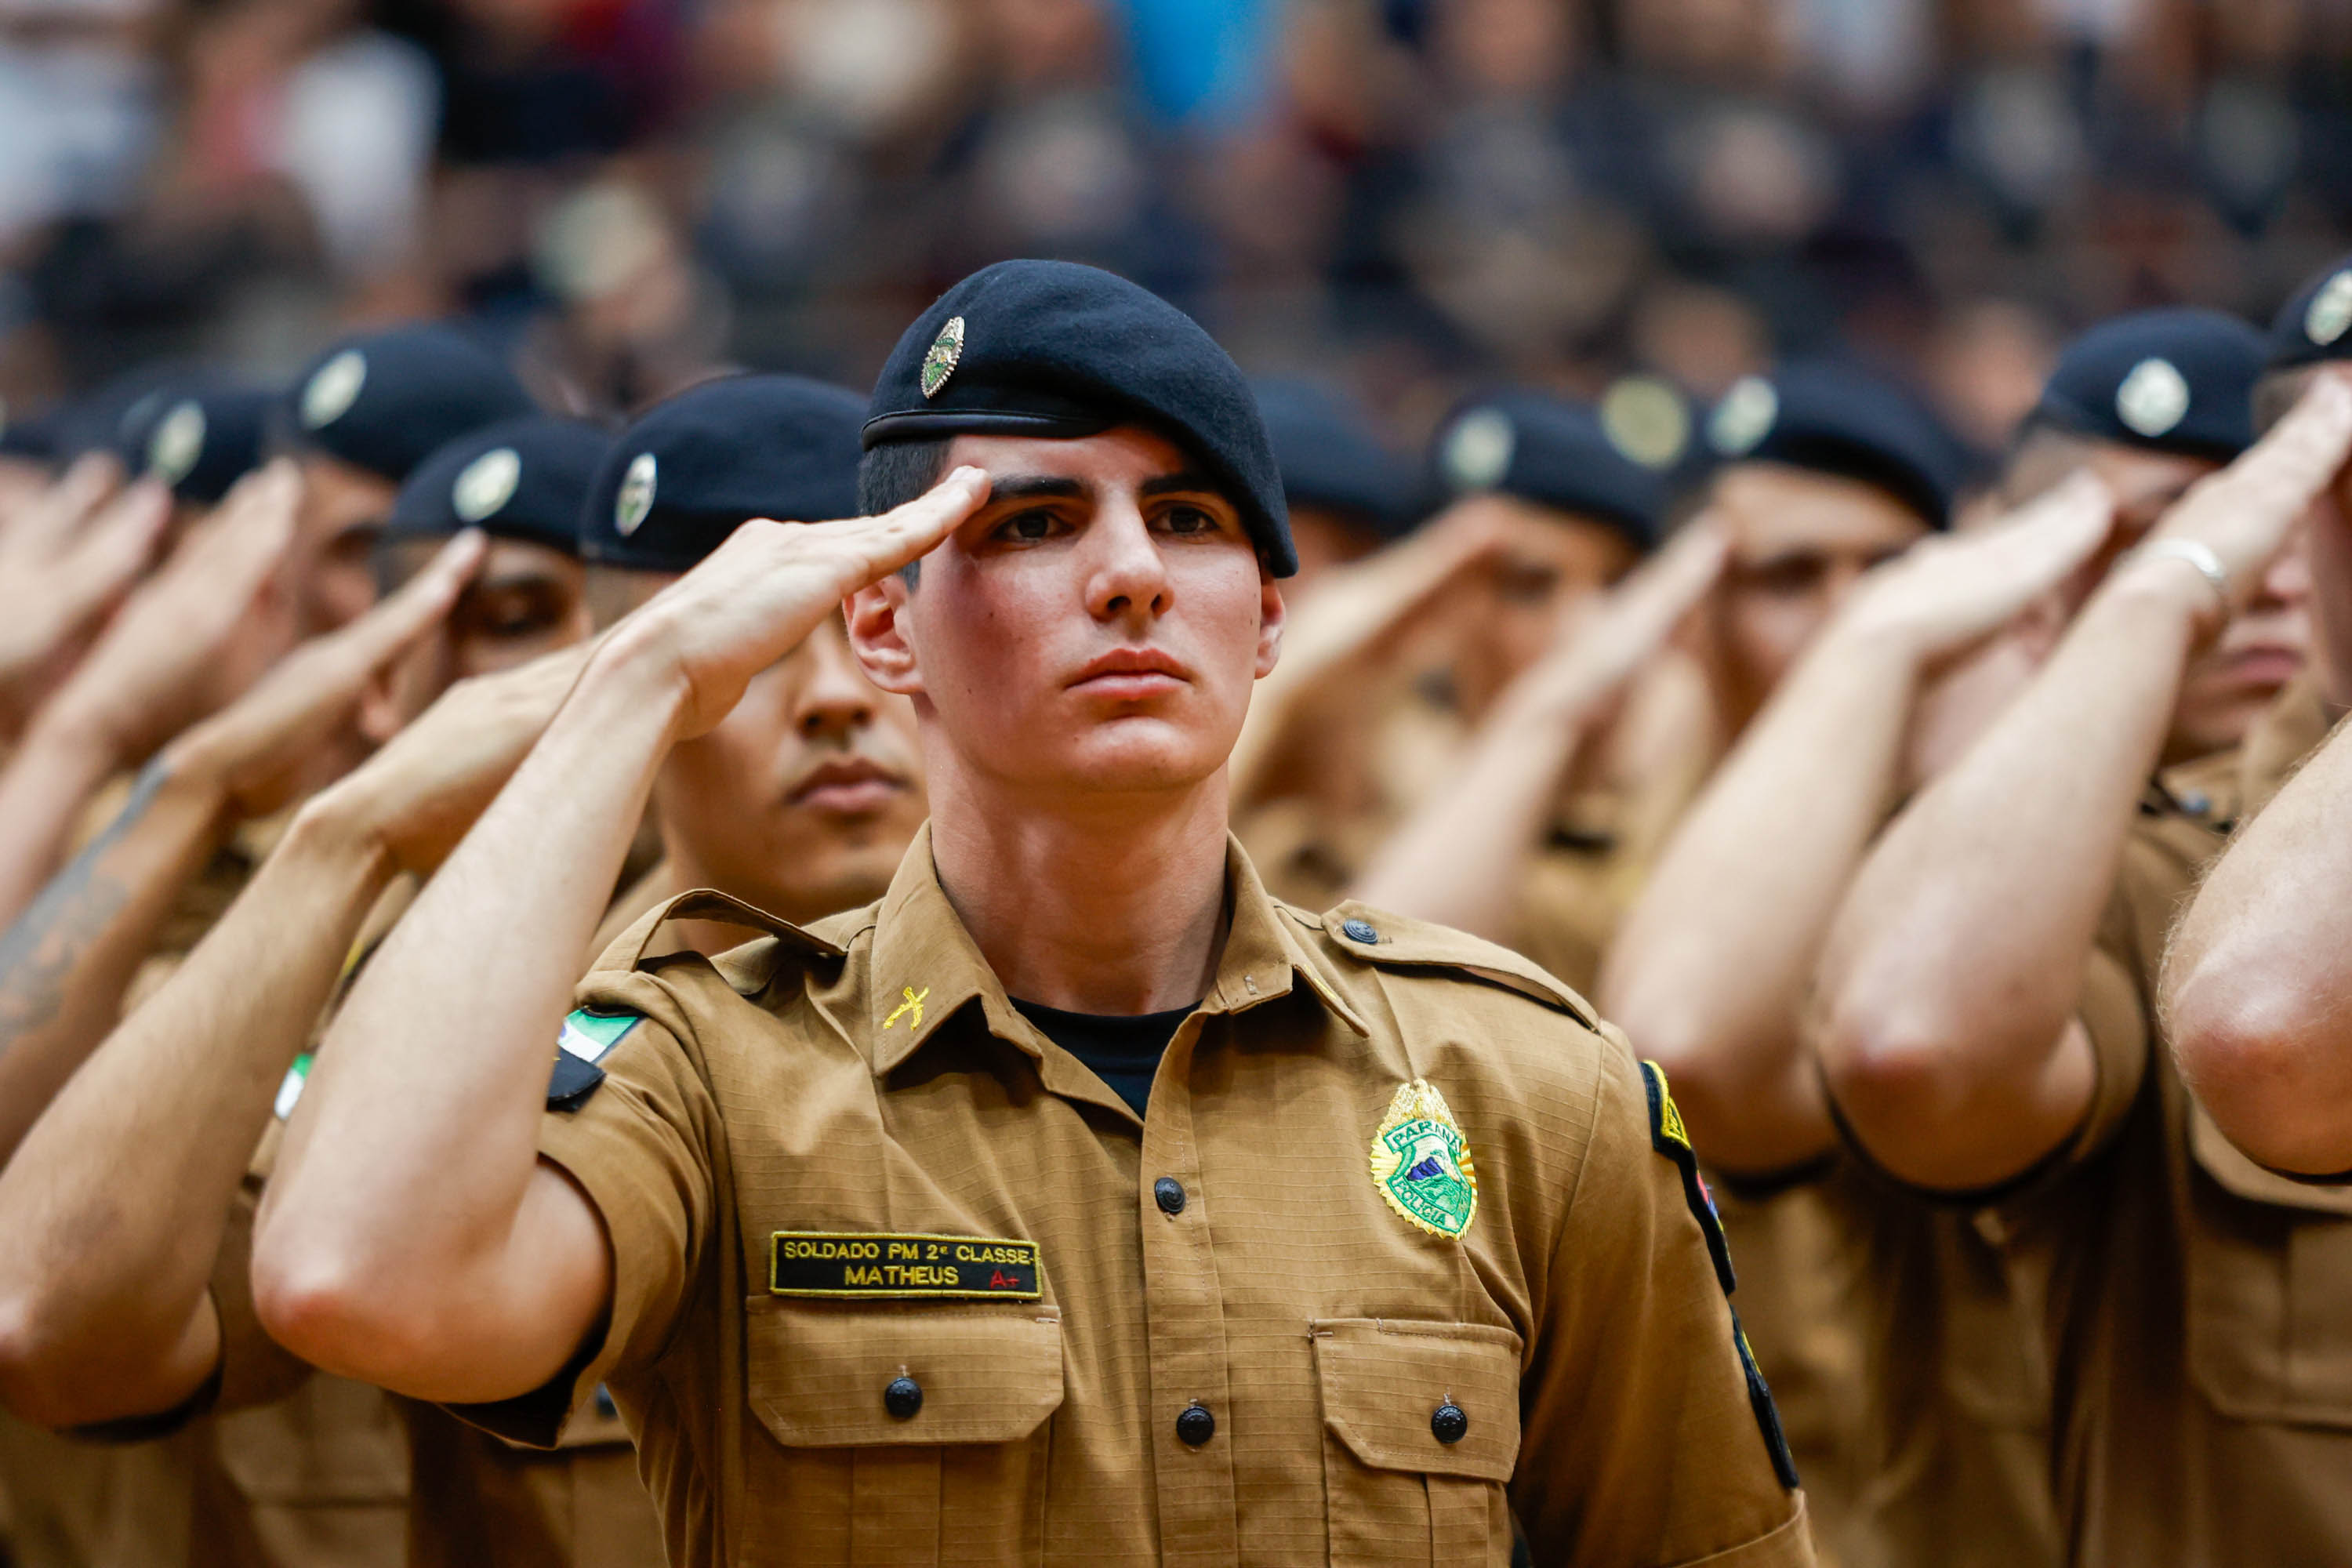
[[[0,936],[0,1159],[115,1027],[122,992],[223,830],[219,788],[158,762]]]

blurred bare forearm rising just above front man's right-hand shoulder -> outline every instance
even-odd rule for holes
[[[1592,703],[1515,686],[1461,773],[1381,846],[1355,896],[1414,919],[1508,940],[1519,877],[1590,731]]]

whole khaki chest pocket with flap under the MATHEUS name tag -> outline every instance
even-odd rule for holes
[[[776,1448],[746,1474],[736,1556],[1042,1561],[1058,1307],[755,1295],[743,1316],[750,1410]]]

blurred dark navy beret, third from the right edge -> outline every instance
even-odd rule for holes
[[[1966,451],[1905,388],[1851,364],[1799,362],[1740,376],[1708,414],[1717,463],[1785,463],[1877,484],[1950,527]]]

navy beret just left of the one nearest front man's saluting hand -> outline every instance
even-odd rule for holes
[[[482,529],[581,552],[581,512],[612,435],[576,418],[527,414],[482,425],[428,456],[393,501],[388,538]]]

